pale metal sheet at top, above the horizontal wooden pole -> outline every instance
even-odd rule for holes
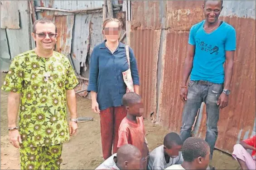
[[[101,8],[104,0],[36,0],[35,5],[40,7],[58,8],[58,9],[88,9]]]

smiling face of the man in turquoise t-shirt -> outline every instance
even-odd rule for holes
[[[215,23],[222,10],[221,1],[206,1],[203,5],[203,13],[208,23]]]

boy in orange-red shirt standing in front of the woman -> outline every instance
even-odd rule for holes
[[[118,131],[117,147],[124,144],[131,144],[137,147],[141,152],[143,170],[146,170],[149,148],[145,138],[145,128],[142,113],[144,104],[141,97],[134,93],[128,92],[123,96],[123,105],[126,107],[127,115],[122,120]]]

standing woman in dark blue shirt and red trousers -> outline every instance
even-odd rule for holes
[[[100,114],[101,144],[106,160],[117,152],[118,129],[126,109],[122,97],[126,84],[122,72],[129,69],[125,45],[118,41],[121,22],[116,18],[106,18],[103,22],[105,41],[94,47],[90,61],[88,92],[92,96],[92,109]],[[139,75],[133,50],[129,47],[130,70],[135,93],[139,94]]]

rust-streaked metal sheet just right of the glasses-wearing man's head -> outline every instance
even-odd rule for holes
[[[54,23],[58,29],[56,51],[68,55],[71,53],[74,15],[55,16]]]

